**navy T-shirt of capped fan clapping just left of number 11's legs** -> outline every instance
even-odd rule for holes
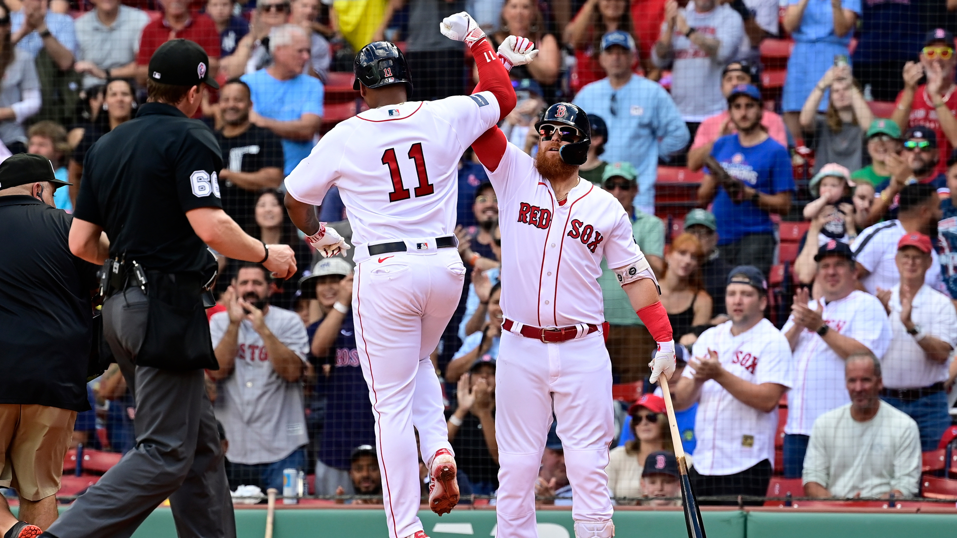
[[[306,334],[312,343],[322,321],[309,325]],[[368,399],[368,386],[359,366],[355,326],[352,312],[345,315],[333,344],[335,356],[329,377],[319,370],[316,393],[325,395],[325,422],[320,442],[319,460],[336,469],[349,468],[349,455],[361,444],[375,446],[375,417]],[[323,364],[322,358],[309,355],[314,365]]]

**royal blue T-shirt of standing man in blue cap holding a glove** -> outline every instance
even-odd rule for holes
[[[711,155],[731,177],[740,179],[751,189],[766,194],[794,190],[788,150],[770,137],[757,146],[745,147],[737,134],[723,136],[715,141]],[[706,169],[705,172],[710,173]],[[768,212],[750,200],[735,204],[720,186],[711,213],[718,220],[719,245],[733,243],[745,235],[774,232]]]

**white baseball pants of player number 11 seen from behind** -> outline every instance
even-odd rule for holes
[[[375,415],[390,538],[422,530],[417,517],[422,482],[412,426],[419,433],[423,461],[441,448],[452,450],[429,355],[456,310],[464,275],[454,248],[389,253],[356,266],[356,347]]]

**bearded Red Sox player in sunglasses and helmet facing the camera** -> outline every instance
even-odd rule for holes
[[[657,341],[652,382],[675,371],[675,344],[628,214],[610,193],[578,176],[590,146],[588,116],[560,102],[535,128],[541,142],[534,159],[507,143],[498,127],[473,145],[498,194],[501,226],[498,536],[537,536],[535,478],[554,408],[575,536],[610,538],[605,467],[614,422],[603,339],[608,324],[597,281],[603,257]]]

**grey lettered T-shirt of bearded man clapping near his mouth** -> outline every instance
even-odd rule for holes
[[[305,363],[309,343],[299,314],[271,305],[265,321],[278,341]],[[212,347],[219,345],[229,325],[229,312],[212,316]],[[244,464],[282,460],[309,441],[302,384],[279,377],[252,322],[243,320],[239,325],[236,343],[234,370],[219,382],[214,408],[230,441],[226,458]]]

